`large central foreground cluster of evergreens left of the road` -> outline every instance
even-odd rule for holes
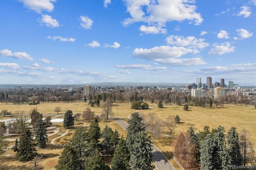
[[[90,128],[77,127],[58,160],[57,170],[110,170],[104,156],[113,155],[112,170],[153,170],[151,142],[142,117],[132,113],[127,136],[110,127],[100,130],[94,118]]]

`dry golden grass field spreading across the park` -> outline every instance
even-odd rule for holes
[[[208,125],[210,129],[217,128],[219,125],[223,126],[226,129],[226,132],[230,129],[230,127],[236,127],[238,133],[246,128],[250,134],[250,140],[253,142],[256,138],[256,109],[251,105],[224,105],[222,107],[214,107],[210,108],[202,108],[202,107],[189,107],[189,111],[184,111],[183,106],[177,105],[164,105],[164,108],[158,108],[156,103],[148,103],[150,109],[148,110],[134,110],[130,108],[131,103],[113,103],[112,111],[114,116],[122,117],[128,119],[128,115],[133,112],[139,112],[141,115],[146,117],[148,113],[156,113],[158,117],[160,117],[163,121],[169,115],[179,115],[181,123],[176,126],[176,130],[173,132],[173,136],[177,136],[180,132],[186,132],[189,127],[193,127],[195,132],[199,132],[203,130],[203,127]],[[55,107],[61,107],[62,111],[57,114],[54,112]],[[0,103],[0,111],[6,109],[8,111],[18,111],[24,110],[29,114],[30,109],[37,107],[38,111],[42,114],[54,114],[61,115],[64,114],[67,110],[71,110],[73,114],[83,113],[86,107],[90,107],[88,103],[76,102],[76,103],[40,103],[39,105],[12,105],[12,104],[2,104]],[[95,112],[96,115],[100,115],[102,113],[102,108],[100,107],[90,107],[92,111]],[[62,116],[63,117],[63,116]],[[60,118],[60,117],[58,117]],[[1,116],[0,119],[3,119]],[[85,122],[86,127],[90,126],[89,122]],[[65,128],[62,127],[62,123],[56,123],[57,127],[60,128],[60,132],[64,133],[66,131]],[[109,120],[107,122],[99,121],[99,126],[101,130],[108,125],[112,128],[112,130],[117,129],[120,133],[120,136],[126,136],[125,130],[120,127],[116,122]],[[79,125],[76,125],[79,126]],[[81,125],[82,126],[82,125]],[[73,131],[67,136],[61,138],[59,142],[64,138],[67,140],[72,138]],[[164,133],[168,134],[167,129],[164,129]],[[49,136],[49,141],[52,138],[60,136],[58,134],[54,134],[53,136]],[[62,142],[63,142],[62,141]],[[173,148],[175,145],[175,138],[169,138],[168,136],[162,136],[159,140],[155,140],[154,143],[165,155],[166,157],[174,163],[172,160]],[[255,144],[256,147],[256,144]],[[61,154],[63,148],[52,146],[50,142],[46,149],[38,149],[38,153],[43,155],[43,159],[39,161],[38,165],[43,167],[44,169],[54,169],[54,166],[58,163],[58,157]],[[14,152],[9,150],[6,153],[8,156],[14,156]],[[12,164],[13,167],[19,166],[21,169],[22,166],[26,166],[26,169],[29,167],[33,168],[32,163],[26,162],[18,162],[14,159],[4,160],[2,162],[3,166],[8,169],[8,165]],[[175,164],[174,166],[179,169]]]

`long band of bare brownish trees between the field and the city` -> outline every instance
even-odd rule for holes
[[[2,102],[12,102],[14,104],[20,104],[20,103],[29,103],[28,100],[31,96],[36,96],[37,100],[40,102],[56,102],[56,101],[63,101],[63,102],[76,102],[80,101],[80,99],[84,98],[84,101],[86,102],[86,97],[84,97],[81,93],[81,91],[77,93],[66,93],[64,91],[61,91],[61,89],[58,89],[58,91],[37,91],[34,92],[34,94],[30,94],[31,92],[28,91],[9,91],[9,92],[1,92],[0,93],[0,101]],[[10,97],[12,96],[12,97]],[[92,95],[90,95],[89,98],[89,104],[91,106],[99,106],[100,102],[106,101],[106,98],[112,99],[113,102],[137,102],[141,101],[151,101],[152,103],[158,103],[160,100],[162,100],[163,103],[176,103],[177,105],[183,105],[185,103],[188,103],[189,105],[194,106],[200,106],[200,107],[206,107],[209,105],[212,105],[211,103],[215,102],[217,104],[217,101],[213,101],[212,97],[192,97],[191,95],[187,95],[184,93],[178,93],[178,92],[164,92],[164,91],[134,91],[134,92],[128,92],[128,93],[118,93],[114,91],[113,93],[98,93],[98,91],[93,91]],[[247,96],[237,96],[237,95],[226,95],[226,97],[223,97],[218,101],[218,104],[224,104],[224,103],[234,103],[235,105],[237,103],[239,104],[245,104],[245,105],[256,105],[256,98],[249,99]]]

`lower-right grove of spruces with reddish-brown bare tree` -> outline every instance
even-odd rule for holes
[[[222,126],[195,133],[190,127],[186,133],[181,133],[174,149],[174,156],[186,168],[200,166],[201,170],[230,169],[230,165],[255,164],[255,150],[248,139],[247,130],[242,130],[240,136],[235,127],[225,134]]]

